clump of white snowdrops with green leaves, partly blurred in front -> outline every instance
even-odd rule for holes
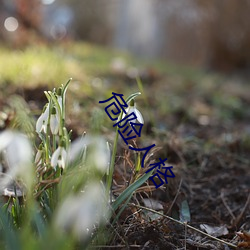
[[[77,245],[105,243],[109,237],[100,237],[102,228],[117,221],[133,193],[151,174],[138,176],[115,200],[110,199],[118,132],[111,159],[108,143],[101,136],[84,134],[72,142],[72,131],[65,126],[69,84],[70,80],[58,89],[45,91],[47,103],[36,122],[35,134],[26,131],[27,137],[11,130],[0,134],[1,164],[8,169],[2,173],[0,188],[2,192],[10,187],[14,190],[0,209],[0,232],[4,235],[0,244],[6,249],[63,246],[70,250]],[[140,157],[135,165],[138,168]]]

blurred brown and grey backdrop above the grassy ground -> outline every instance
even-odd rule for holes
[[[249,0],[1,0],[0,39],[84,40],[220,71],[248,71]]]

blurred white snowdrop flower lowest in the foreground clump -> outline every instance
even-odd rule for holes
[[[90,184],[81,194],[66,198],[56,214],[55,226],[62,232],[70,232],[85,240],[96,225],[108,220],[108,203],[100,183]]]

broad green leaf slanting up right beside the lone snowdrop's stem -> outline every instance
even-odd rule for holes
[[[138,180],[136,180],[133,184],[131,184],[128,188],[126,188],[118,198],[113,202],[112,208],[115,211],[124,200],[126,200],[137,188],[139,188],[152,174],[154,170],[150,171],[147,174],[141,176]],[[132,196],[131,196],[132,197]]]

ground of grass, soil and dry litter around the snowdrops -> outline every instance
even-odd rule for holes
[[[10,116],[12,94],[23,96],[36,117],[46,101],[43,90],[73,77],[66,121],[73,138],[84,131],[91,133],[97,115],[103,121],[102,135],[112,143],[115,130],[98,102],[112,92],[125,96],[142,92],[136,102],[145,124],[135,143],[141,147],[155,143],[157,150],[147,163],[167,158],[176,177],[156,190],[149,188],[153,186],[149,182],[136,192],[114,226],[115,236],[107,243],[110,249],[233,249],[138,205],[187,220],[197,229],[206,227],[208,234],[234,245],[240,242],[236,232],[250,230],[250,84],[246,77],[138,60],[88,44],[23,52],[2,47],[1,54],[6,60],[0,67],[0,105]],[[137,84],[135,73],[142,84]],[[1,129],[6,126],[2,121]],[[120,141],[115,196],[134,176],[132,154]]]

